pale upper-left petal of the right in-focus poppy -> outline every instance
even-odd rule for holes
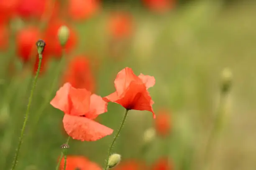
[[[115,89],[118,95],[123,94],[132,81],[142,83],[141,79],[134,74],[131,68],[125,67],[123,70],[118,72],[118,75],[114,81]]]

